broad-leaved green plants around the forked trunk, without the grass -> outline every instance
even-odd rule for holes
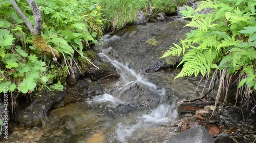
[[[62,91],[74,52],[82,54],[84,47],[90,48],[91,43],[97,43],[96,37],[102,35],[101,6],[97,3],[67,0],[36,3],[41,6],[42,35],[48,45],[61,53],[62,59],[52,60],[35,49],[33,45],[42,41],[32,41],[32,34],[10,1],[0,1],[0,93],[4,87],[11,94]],[[28,3],[17,1],[17,5],[33,25]]]

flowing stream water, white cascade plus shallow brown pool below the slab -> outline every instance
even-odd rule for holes
[[[104,53],[99,55],[115,66],[120,78],[102,83],[109,89],[93,98],[75,95],[79,89],[70,88],[63,97],[65,106],[51,109],[42,127],[26,129],[24,134],[40,132],[38,142],[162,142],[176,134],[168,125],[179,118],[177,102],[190,99],[195,91],[194,96],[199,96],[204,85],[196,90],[200,79],[174,82],[179,70],[138,73]],[[79,85],[83,87],[83,80]],[[20,138],[20,132],[17,136],[19,142],[29,140]],[[15,140],[15,135],[10,138]]]

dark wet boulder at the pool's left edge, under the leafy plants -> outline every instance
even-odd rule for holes
[[[45,92],[33,98],[29,105],[18,105],[11,119],[25,127],[41,126],[41,118],[47,115],[51,106],[60,101],[65,92]]]

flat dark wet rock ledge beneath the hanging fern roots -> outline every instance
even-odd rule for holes
[[[190,102],[181,103],[178,107],[180,113],[196,113],[197,110],[203,109],[206,105],[214,105],[215,102]]]

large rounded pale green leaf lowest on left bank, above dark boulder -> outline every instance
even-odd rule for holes
[[[18,90],[22,93],[27,93],[29,90],[34,91],[36,83],[34,80],[24,79],[23,82],[19,83]]]

